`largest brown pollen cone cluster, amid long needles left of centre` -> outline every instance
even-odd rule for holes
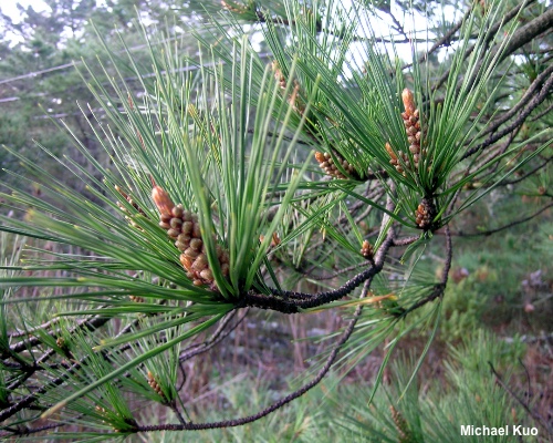
[[[201,229],[198,215],[191,214],[182,208],[182,205],[175,205],[165,189],[154,186],[152,198],[159,209],[159,226],[167,230],[167,235],[175,240],[175,246],[180,254],[180,264],[195,285],[209,285],[216,289],[213,274],[209,267],[206,254],[206,245],[201,237]],[[229,274],[228,253],[217,245],[217,258],[221,267],[221,274]]]

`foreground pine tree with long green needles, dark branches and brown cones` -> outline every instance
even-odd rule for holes
[[[440,321],[450,225],[492,189],[517,185],[517,171],[547,167],[553,74],[551,48],[538,42],[547,44],[540,35],[553,11],[540,3],[471,3],[424,37],[387,4],[218,9],[205,10],[201,32],[181,24],[199,55],[179,44],[179,27],[144,32],[148,63],[122,56],[124,34],[116,47],[98,29],[105,56],[77,69],[98,104],[82,105],[86,131],[106,162],[70,126],[85,162],[56,157],[63,176],[11,151],[40,193],[7,184],[2,195],[13,214],[0,216],[1,229],[30,239],[0,279],[2,436],[243,425],[389,340],[379,381],[395,344],[427,322],[420,362]],[[393,24],[379,35],[382,14]],[[547,188],[538,194],[550,205]],[[418,274],[429,244],[442,245],[438,277]],[[332,284],[303,291],[304,279]],[[248,416],[187,418],[182,362],[250,311],[321,309],[348,323],[304,385]],[[142,421],[133,404],[145,401],[176,422]],[[411,441],[400,412],[392,415]]]

